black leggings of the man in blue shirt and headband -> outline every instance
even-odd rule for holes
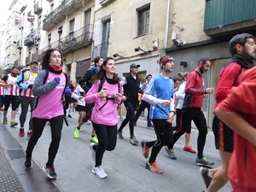
[[[172,124],[167,123],[166,119],[152,119],[152,122],[154,124],[154,132],[157,140],[146,143],[148,148],[153,146],[148,160],[149,163],[154,163],[157,154],[159,154],[163,146],[170,146],[172,143]]]

